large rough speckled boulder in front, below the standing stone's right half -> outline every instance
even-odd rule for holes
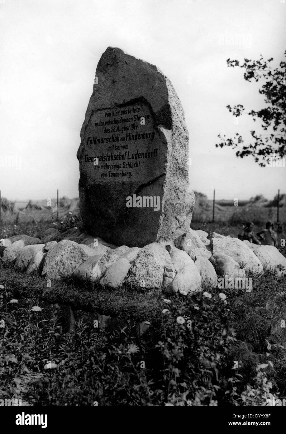
[[[127,283],[136,288],[162,289],[165,267],[172,268],[167,250],[159,243],[147,244],[136,256]]]

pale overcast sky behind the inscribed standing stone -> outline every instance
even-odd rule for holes
[[[171,80],[185,110],[193,190],[211,198],[215,188],[218,199],[286,192],[286,168],[260,168],[214,146],[219,133],[248,137],[253,129],[250,116],[235,125],[225,107],[260,109],[263,98],[226,59],[284,60],[283,1],[0,0],[0,157],[16,162],[0,167],[1,195],[78,195],[79,134],[107,46]],[[227,43],[238,35],[240,43]]]

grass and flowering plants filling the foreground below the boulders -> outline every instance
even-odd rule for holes
[[[2,264],[0,389],[11,398],[12,387],[16,397],[23,378],[38,373],[20,396],[33,405],[265,405],[271,393],[284,399],[286,276],[249,277],[251,293],[213,288],[211,298],[168,294],[166,304],[156,293],[72,280],[46,288],[40,276]],[[18,303],[11,305],[12,298]],[[65,331],[53,303],[75,309],[73,332]],[[43,311],[31,312],[32,306]],[[95,312],[122,321],[94,329]],[[143,320],[150,325],[140,336],[136,321]],[[48,361],[57,365],[53,372],[44,369]]]

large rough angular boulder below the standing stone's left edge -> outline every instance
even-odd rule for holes
[[[91,256],[79,244],[71,240],[62,240],[52,246],[45,258],[42,276],[46,279],[70,277],[73,271]]]

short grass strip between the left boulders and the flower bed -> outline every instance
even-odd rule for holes
[[[51,287],[38,274],[27,275],[0,262],[0,282],[14,298],[33,298],[39,302],[70,305],[73,310],[97,312],[101,315],[126,316],[144,321],[156,308],[156,292],[141,289],[110,289],[97,283],[80,284],[74,279],[54,280]]]

